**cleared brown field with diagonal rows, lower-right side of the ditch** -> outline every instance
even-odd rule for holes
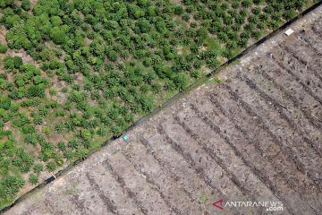
[[[322,214],[321,14],[6,214]],[[282,202],[283,211],[226,202]]]

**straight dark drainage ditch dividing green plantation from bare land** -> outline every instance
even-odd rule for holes
[[[292,23],[298,21],[299,19],[301,19],[306,14],[308,14],[311,11],[315,10],[316,8],[318,8],[318,6],[320,6],[321,4],[322,4],[322,1],[321,0],[318,0],[317,3],[312,4],[308,9],[306,9],[302,13],[300,13],[297,16],[295,16],[294,18],[292,18],[292,20],[290,20],[288,22],[285,22],[282,26],[280,26],[276,30],[273,30],[271,33],[267,34],[267,36],[265,36],[264,38],[259,39],[257,42],[255,42],[254,44],[252,44],[250,47],[247,47],[246,49],[244,49],[237,56],[234,56],[230,60],[227,60],[224,64],[221,64],[218,68],[216,68],[212,72],[206,74],[204,77],[200,78],[196,82],[193,82],[186,90],[180,91],[177,94],[175,94],[172,98],[166,100],[165,103],[163,103],[161,105],[161,107],[156,107],[148,115],[140,117],[140,119],[137,122],[133,123],[127,129],[123,130],[122,134],[123,133],[127,133],[127,132],[131,131],[133,128],[135,128],[136,126],[138,126],[138,125],[140,125],[140,124],[148,121],[149,118],[151,118],[152,116],[157,115],[159,112],[161,112],[166,107],[170,107],[172,104],[174,104],[174,102],[176,100],[181,99],[184,95],[186,95],[187,93],[191,92],[191,90],[194,90],[197,87],[199,87],[202,83],[207,82],[210,78],[214,77],[217,73],[220,73],[220,71],[222,71],[223,69],[225,69],[228,65],[231,65],[234,62],[236,62],[237,60],[241,59],[242,56],[246,56],[247,54],[250,53],[250,51],[254,50],[256,47],[258,47],[259,45],[261,45],[262,43],[264,43],[268,39],[271,39],[271,38],[275,37],[275,35],[277,35],[281,31],[285,30],[288,26],[290,26]],[[122,134],[121,134],[121,136],[122,136]],[[101,148],[103,148],[106,145],[108,145],[110,142],[113,142],[114,140],[117,140],[119,138],[120,137],[111,137],[106,142],[103,142],[100,145],[100,147],[98,147],[97,149],[89,151],[89,154],[88,154],[87,157],[91,156],[92,154],[94,154],[98,150],[101,150]],[[86,160],[86,159],[84,159],[84,160]],[[9,211],[11,208],[13,208],[13,206],[15,206],[16,204],[18,204],[19,202],[22,202],[25,198],[27,198],[28,196],[30,196],[32,193],[36,193],[39,189],[41,189],[41,188],[45,187],[46,185],[50,184],[51,182],[55,181],[55,179],[57,179],[58,177],[64,176],[70,169],[72,169],[76,165],[80,164],[84,160],[80,160],[80,159],[75,160],[71,164],[69,164],[66,168],[59,170],[55,174],[55,176],[48,177],[46,180],[44,180],[42,183],[40,183],[36,187],[32,188],[27,193],[22,194],[12,204],[4,207],[4,209],[2,209],[0,211],[0,214],[3,214],[5,211]]]

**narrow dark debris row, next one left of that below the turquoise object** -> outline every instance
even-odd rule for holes
[[[107,171],[114,177],[114,180],[118,182],[118,184],[122,187],[123,192],[126,193],[128,198],[130,198],[136,205],[137,208],[140,209],[140,212],[144,215],[148,215],[148,210],[143,206],[142,202],[138,199],[136,196],[136,193],[133,193],[124,182],[123,177],[119,176],[118,173],[114,170],[114,168],[111,166],[111,164],[106,160],[103,165],[106,166]]]

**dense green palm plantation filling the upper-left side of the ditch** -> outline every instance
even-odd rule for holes
[[[41,171],[85,159],[305,3],[0,0],[7,47],[34,62],[2,54],[0,204]]]

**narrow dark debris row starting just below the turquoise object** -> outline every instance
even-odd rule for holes
[[[179,211],[179,209],[176,206],[174,206],[174,204],[171,202],[171,200],[169,200],[170,196],[165,196],[165,193],[161,190],[160,185],[158,185],[157,182],[152,177],[148,176],[148,174],[145,171],[143,171],[135,162],[133,162],[131,157],[128,156],[126,153],[123,153],[123,156],[125,159],[127,159],[133,165],[135,170],[138,171],[141,176],[144,176],[145,181],[149,185],[152,185],[154,190],[157,191],[157,193],[159,194],[161,199],[165,202],[165,204],[168,208],[170,208],[172,211],[174,211],[175,214],[179,214],[179,215],[183,214],[182,211]]]

